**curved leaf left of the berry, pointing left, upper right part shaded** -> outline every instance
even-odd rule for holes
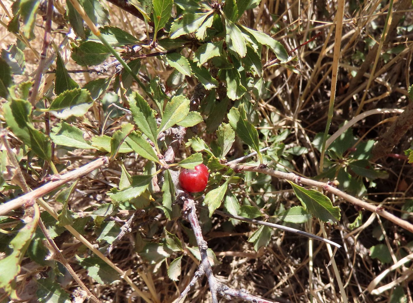
[[[151,175],[138,175],[132,177],[131,186],[126,189],[111,189],[107,195],[116,202],[128,202],[147,190],[150,182],[152,181]]]

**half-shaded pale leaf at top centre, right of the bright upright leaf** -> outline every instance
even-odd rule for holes
[[[171,31],[169,32],[171,39],[195,32],[210,14],[211,12],[186,13],[178,19],[175,19],[172,22]]]

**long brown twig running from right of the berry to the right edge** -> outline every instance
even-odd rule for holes
[[[250,171],[250,172],[260,172],[266,175],[271,175],[279,179],[289,180],[296,184],[306,184],[310,186],[320,187],[324,189],[325,191],[334,193],[336,196],[343,198],[344,200],[350,202],[351,204],[354,204],[354,205],[357,205],[358,207],[369,210],[370,212],[375,212],[379,214],[381,217],[389,221],[392,221],[394,224],[413,233],[413,224],[409,223],[408,221],[400,219],[399,217],[396,217],[394,214],[387,212],[386,210],[384,210],[383,207],[374,206],[370,203],[364,202],[363,200],[355,198],[347,193],[344,193],[343,191],[340,191],[339,189],[335,188],[334,186],[331,186],[328,183],[323,183],[323,182],[307,179],[304,177],[300,177],[292,172],[290,173],[280,172],[278,170],[272,170],[269,168],[260,168],[258,166],[235,165],[235,164],[230,164],[228,166],[236,171],[244,170],[244,171]]]

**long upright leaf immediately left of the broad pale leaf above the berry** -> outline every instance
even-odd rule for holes
[[[142,133],[147,135],[154,144],[157,144],[157,123],[149,104],[135,91],[129,98],[129,106],[133,115],[133,121],[135,121]]]

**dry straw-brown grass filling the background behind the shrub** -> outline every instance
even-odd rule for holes
[[[1,0],[5,8],[10,12],[11,2]],[[144,24],[123,12],[121,9],[103,2],[109,8],[112,16],[112,25],[132,33],[135,37],[145,39]],[[330,100],[334,101],[332,124],[330,133],[338,130],[343,121],[356,117],[360,112],[375,108],[403,109],[408,103],[407,87],[413,82],[411,79],[411,55],[412,55],[412,28],[413,11],[411,2],[400,0],[394,3],[394,13],[389,24],[399,19],[394,28],[396,32],[388,33],[382,45],[380,56],[373,72],[373,65],[377,48],[369,43],[378,45],[386,24],[388,3],[373,0],[366,3],[357,1],[346,2],[344,6],[344,18],[342,19],[342,34],[335,36],[334,23],[337,16],[338,1],[268,1],[262,0],[261,4],[253,12],[247,12],[243,23],[257,28],[266,33],[272,33],[288,50],[298,47],[314,35],[320,35],[309,44],[299,47],[294,51],[298,58],[297,71],[294,73],[285,67],[270,68],[265,72],[264,78],[270,81],[268,93],[262,100],[256,100],[256,108],[261,119],[267,119],[271,126],[271,132],[279,133],[284,129],[290,129],[291,135],[285,141],[286,145],[308,147],[311,152],[304,156],[295,157],[292,160],[295,170],[304,176],[313,177],[319,173],[320,155],[313,149],[311,141],[315,133],[323,132],[328,117]],[[399,9],[399,5],[405,5]],[[0,9],[0,19],[8,22],[8,14]],[[55,26],[52,27],[55,29]],[[278,29],[277,33],[273,29]],[[26,47],[26,75],[17,81],[28,79],[33,75],[37,67],[37,56],[43,43],[43,22],[41,18],[36,21],[36,39],[30,41],[30,47]],[[52,39],[56,45],[64,40],[60,30],[52,33]],[[335,48],[341,41],[341,47]],[[0,27],[0,47],[6,48],[14,43],[15,37],[8,33],[4,27]],[[373,43],[371,43],[373,44]],[[402,48],[394,53],[395,48]],[[67,61],[68,70],[79,69],[70,58],[69,43],[62,46],[61,54]],[[371,49],[375,50],[372,51]],[[335,51],[335,53],[334,53]],[[49,55],[50,56],[50,52]],[[385,60],[384,60],[385,59]],[[161,81],[166,81],[170,68],[165,67],[157,58],[147,58],[145,73],[157,75]],[[53,66],[52,66],[53,67]],[[366,68],[365,68],[366,67]],[[331,87],[335,87],[335,78],[332,73],[337,70],[337,90],[335,98],[332,96]],[[114,72],[111,70],[110,72]],[[357,76],[356,76],[357,75]],[[355,76],[358,78],[355,80]],[[53,77],[53,76],[48,76]],[[79,84],[84,84],[97,77],[94,74],[74,74],[73,78]],[[48,78],[46,84],[41,86],[44,90],[50,84]],[[45,78],[43,78],[45,79]],[[366,90],[366,87],[368,90]],[[189,83],[187,91],[190,92],[193,84]],[[363,101],[362,101],[363,100]],[[361,105],[363,103],[363,105]],[[78,126],[92,136],[91,126],[100,126],[100,129],[112,133],[121,121],[126,121],[124,116],[116,121],[107,117],[99,117],[99,108],[90,111],[85,119],[78,119]],[[275,113],[275,114],[274,114]],[[354,134],[358,138],[377,139],[387,126],[394,121],[395,114],[376,114],[365,117],[353,126]],[[104,121],[106,121],[104,124]],[[199,134],[203,129],[199,129]],[[205,134],[204,140],[208,142],[214,134]],[[403,154],[412,143],[412,129],[394,149],[394,153]],[[181,156],[185,151],[182,148]],[[232,151],[234,154],[235,152]],[[80,166],[88,161],[87,156],[93,154],[70,153],[70,156],[62,158],[62,163],[70,160],[71,167]],[[133,159],[125,161],[129,172],[142,169],[142,163],[136,163]],[[406,200],[413,198],[413,172],[411,166],[404,160],[396,158],[382,158],[378,161],[383,169],[389,172],[388,179],[377,181],[375,188],[368,189],[368,201],[375,205],[381,205],[396,215],[401,214],[401,207]],[[72,209],[78,211],[87,210],[95,203],[109,202],[104,193],[110,189],[111,184],[118,184],[120,169],[117,163],[112,163],[109,168],[102,171],[96,178],[88,176],[79,182],[78,189],[82,196],[76,193],[76,202]],[[240,195],[254,200],[261,196],[266,205],[264,208],[276,209],[284,204],[286,208],[296,205],[296,199],[292,191],[284,182],[272,180],[274,192],[254,193],[251,190],[237,189]],[[109,185],[108,185],[109,184]],[[279,302],[385,302],[394,295],[394,287],[400,286],[407,300],[413,302],[409,282],[411,281],[412,265],[406,263],[396,270],[382,277],[377,287],[389,285],[388,289],[377,294],[368,291],[368,285],[387,268],[401,259],[401,252],[411,255],[413,253],[412,235],[380,220],[376,214],[365,213],[363,224],[354,231],[349,230],[349,223],[354,221],[358,211],[348,203],[335,200],[342,210],[342,220],[336,226],[325,226],[331,240],[343,243],[344,247],[335,254],[334,260],[338,275],[335,275],[333,265],[330,263],[330,254],[323,243],[311,242],[307,239],[292,234],[273,231],[270,244],[255,252],[251,243],[246,240],[256,229],[249,224],[238,224],[234,229],[230,228],[228,220],[214,216],[212,221],[206,219],[206,214],[200,214],[201,223],[205,222],[204,235],[208,245],[216,253],[221,264],[214,267],[214,274],[221,282],[233,288],[244,288],[252,294]],[[58,205],[50,204],[56,209]],[[58,203],[56,203],[58,204]],[[196,260],[189,256],[183,258],[182,275],[178,282],[172,282],[166,273],[166,267],[161,266],[157,272],[136,254],[140,241],[146,238],[159,239],[163,236],[163,227],[171,233],[176,233],[183,242],[188,243],[190,233],[186,233],[188,224],[181,221],[167,221],[164,217],[153,221],[159,214],[157,209],[145,214],[138,219],[131,234],[123,238],[119,246],[114,249],[111,259],[123,270],[132,269],[131,279],[140,289],[157,294],[159,302],[172,302],[180,291],[188,284],[192,275],[197,270]],[[412,213],[408,220],[412,221]],[[121,216],[120,216],[121,217]],[[121,219],[124,219],[121,217]],[[321,235],[318,221],[311,221],[301,226],[304,230]],[[94,242],[93,232],[86,231],[90,235],[88,240]],[[371,259],[369,247],[377,245],[379,241],[376,235],[381,234],[392,254],[390,264],[382,264],[377,259]],[[65,233],[63,235],[66,235]],[[63,235],[61,237],[63,237]],[[71,259],[78,242],[69,235],[60,239],[58,246],[63,249],[63,254]],[[71,259],[74,261],[74,259]],[[171,260],[169,260],[170,263]],[[83,282],[102,302],[143,302],[135,296],[131,287],[125,282],[113,285],[101,285],[95,283],[87,276],[85,271],[73,263],[74,269]],[[409,267],[410,266],[410,267]],[[140,272],[140,274],[139,274]],[[146,278],[145,278],[146,275]],[[391,284],[402,275],[404,281]],[[346,296],[340,292],[339,284],[342,284]],[[77,287],[73,283],[63,284],[67,291],[73,291]],[[411,287],[411,282],[410,282]],[[375,287],[373,287],[375,288]],[[190,291],[186,302],[210,302],[210,294],[206,278],[203,278]],[[228,301],[221,298],[220,302]],[[240,299],[231,299],[231,302],[242,302]]]

